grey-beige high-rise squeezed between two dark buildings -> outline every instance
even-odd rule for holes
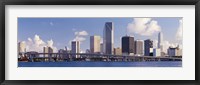
[[[135,54],[143,55],[143,40],[136,40],[135,41]]]

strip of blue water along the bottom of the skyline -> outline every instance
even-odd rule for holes
[[[148,61],[148,62],[18,62],[18,67],[182,67],[182,61]]]

